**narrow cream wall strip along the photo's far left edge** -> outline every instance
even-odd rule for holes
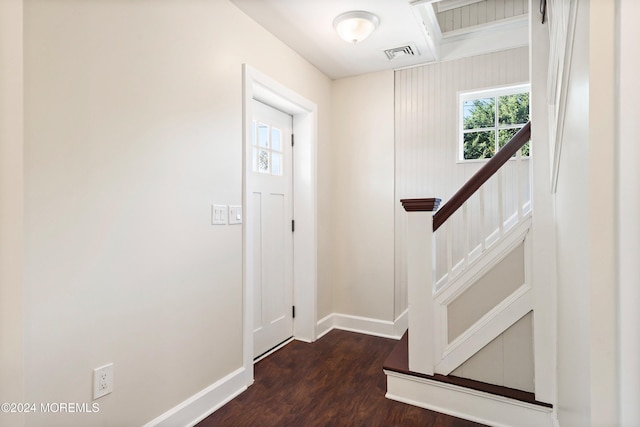
[[[22,1],[0,2],[0,402],[24,402]],[[22,414],[0,411],[0,425]]]

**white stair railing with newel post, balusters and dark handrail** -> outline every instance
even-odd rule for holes
[[[531,124],[527,123],[496,155],[489,160],[461,189],[438,210],[440,199],[404,199],[401,203],[407,211],[407,285],[409,299],[409,369],[426,375],[433,375],[435,367],[442,358],[442,331],[439,330],[440,321],[436,310],[438,302],[435,293],[442,291],[454,283],[456,276],[468,268],[482,253],[499,242],[507,231],[517,224],[528,220],[531,212],[530,202],[530,171],[529,161],[522,159],[520,149],[529,141]],[[503,166],[515,156],[514,182],[505,182]],[[526,165],[526,169],[524,168]],[[513,168],[512,168],[513,169]],[[526,173],[522,171],[526,170]],[[527,177],[526,191],[523,190],[522,175]],[[487,181],[490,179],[495,182]],[[511,185],[509,185],[511,184]],[[485,204],[487,185],[497,187],[497,207]],[[507,211],[505,187],[513,187],[516,191],[510,193],[508,200],[514,200],[513,210]],[[475,195],[475,196],[474,196]],[[472,197],[479,199],[477,215],[470,213]],[[475,203],[475,201],[473,202]],[[437,213],[434,214],[434,211]],[[497,216],[497,226],[486,224],[489,214]],[[462,224],[454,229],[450,218],[458,212]],[[513,212],[513,213],[512,213]],[[506,219],[505,219],[506,217]],[[440,245],[436,245],[434,232],[437,233]],[[455,238],[458,230],[462,236]],[[441,234],[444,233],[444,234]],[[471,236],[479,235],[479,241],[472,243]],[[513,233],[512,233],[513,234]],[[525,232],[526,235],[526,232]],[[444,236],[444,237],[442,237]],[[443,245],[442,242],[445,242]],[[444,246],[444,250],[442,249]],[[456,258],[454,248],[461,247],[461,254]],[[436,262],[437,256],[446,257],[444,263]],[[490,261],[489,261],[490,262]],[[446,273],[439,274],[437,265],[446,266]],[[459,282],[459,281],[458,281]],[[460,284],[458,286],[465,286]],[[451,290],[449,290],[451,292]],[[528,295],[528,289],[519,290]],[[521,298],[521,301],[529,301]],[[527,302],[528,304],[528,302]],[[518,306],[518,311],[526,309],[526,304]],[[515,315],[512,313],[511,317]],[[446,334],[446,331],[444,332]],[[471,356],[471,355],[469,355]]]

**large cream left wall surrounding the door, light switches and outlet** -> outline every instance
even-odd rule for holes
[[[26,400],[115,364],[98,414],[27,425],[141,425],[242,365],[241,228],[210,225],[242,200],[241,65],[318,104],[319,205],[330,81],[227,1],[29,0],[24,34]]]

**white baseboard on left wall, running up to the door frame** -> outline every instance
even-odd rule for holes
[[[230,373],[143,427],[193,427],[247,389],[244,368]]]

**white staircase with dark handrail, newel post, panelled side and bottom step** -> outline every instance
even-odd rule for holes
[[[401,200],[409,332],[384,366],[388,398],[488,425],[553,425],[551,405],[533,393],[450,375],[533,310],[532,209],[524,197],[531,192],[521,191],[516,173],[516,205],[508,211],[502,172],[509,161],[520,170],[530,129],[528,123],[439,210],[437,198]],[[494,208],[484,202],[490,180]],[[495,227],[487,226],[489,215],[497,217]]]

